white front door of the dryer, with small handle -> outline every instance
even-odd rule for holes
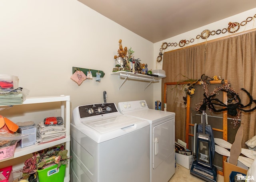
[[[153,168],[174,153],[174,119],[153,127]]]

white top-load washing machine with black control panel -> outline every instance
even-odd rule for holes
[[[71,182],[149,182],[150,125],[114,103],[73,110]]]

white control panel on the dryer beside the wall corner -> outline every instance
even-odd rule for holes
[[[118,109],[120,110],[120,112],[138,110],[143,108],[148,108],[148,105],[145,100],[118,103]]]

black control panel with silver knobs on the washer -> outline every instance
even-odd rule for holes
[[[90,104],[79,106],[80,118],[118,112],[114,103]]]

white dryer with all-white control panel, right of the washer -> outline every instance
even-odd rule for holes
[[[168,182],[175,172],[175,113],[149,109],[145,100],[119,102],[118,109],[150,123],[150,182]]]

